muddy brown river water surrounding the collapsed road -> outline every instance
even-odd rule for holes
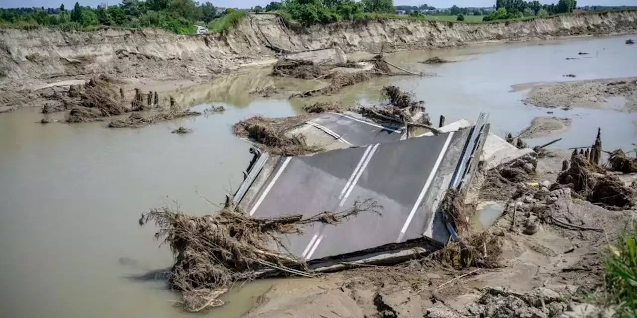
[[[440,52],[410,52],[389,59],[403,67],[434,72],[434,78],[378,79],[336,97],[372,104],[383,85],[412,90],[426,101],[433,121],[447,123],[490,113],[491,131],[518,132],[536,116],[573,118],[561,134],[561,148],[592,143],[601,127],[605,149],[630,148],[637,114],[609,109],[540,109],[525,106],[525,83],[637,76],[629,37],[531,41]],[[542,45],[540,45],[540,43]],[[577,55],[589,52],[587,58]],[[459,62],[418,64],[438,55]],[[579,60],[565,60],[580,57]],[[0,316],[2,317],[185,317],[166,289],[162,271],[172,265],[167,247],[140,228],[141,212],[157,205],[192,214],[213,210],[197,191],[221,203],[236,190],[250,160],[250,145],[231,134],[231,125],[254,114],[289,116],[308,100],[288,100],[290,91],[316,81],[276,81],[288,92],[270,99],[250,97],[274,79],[264,71],[227,76],[186,88],[178,102],[206,107],[217,102],[224,114],[182,118],[141,129],[107,129],[104,123],[65,125],[38,122],[36,109],[0,115]],[[522,85],[524,86],[524,85]],[[528,87],[528,86],[527,86]],[[194,132],[170,134],[185,126]],[[611,137],[612,136],[612,137]],[[554,137],[529,141],[541,144]],[[276,281],[236,288],[227,305],[206,314],[234,318]]]

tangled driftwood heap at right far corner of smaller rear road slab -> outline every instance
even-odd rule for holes
[[[400,88],[389,85],[383,88],[383,95],[389,100],[388,106],[361,107],[359,112],[368,118],[403,123],[408,127],[428,128],[431,126],[424,102],[416,100],[412,93],[403,92]]]

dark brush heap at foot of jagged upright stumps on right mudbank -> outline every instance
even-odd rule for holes
[[[571,156],[570,167],[557,176],[557,183],[573,189],[593,204],[629,208],[634,205],[633,190],[580,154]]]

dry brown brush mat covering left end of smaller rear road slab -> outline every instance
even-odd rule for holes
[[[319,146],[308,146],[303,134],[287,134],[287,131],[307,120],[306,116],[264,118],[254,116],[234,124],[234,134],[257,143],[266,152],[283,156],[308,155],[324,151]]]

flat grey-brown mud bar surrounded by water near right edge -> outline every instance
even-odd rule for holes
[[[637,111],[637,78],[592,79],[534,86],[525,104],[547,108],[600,108],[612,97],[624,97],[622,111]]]

